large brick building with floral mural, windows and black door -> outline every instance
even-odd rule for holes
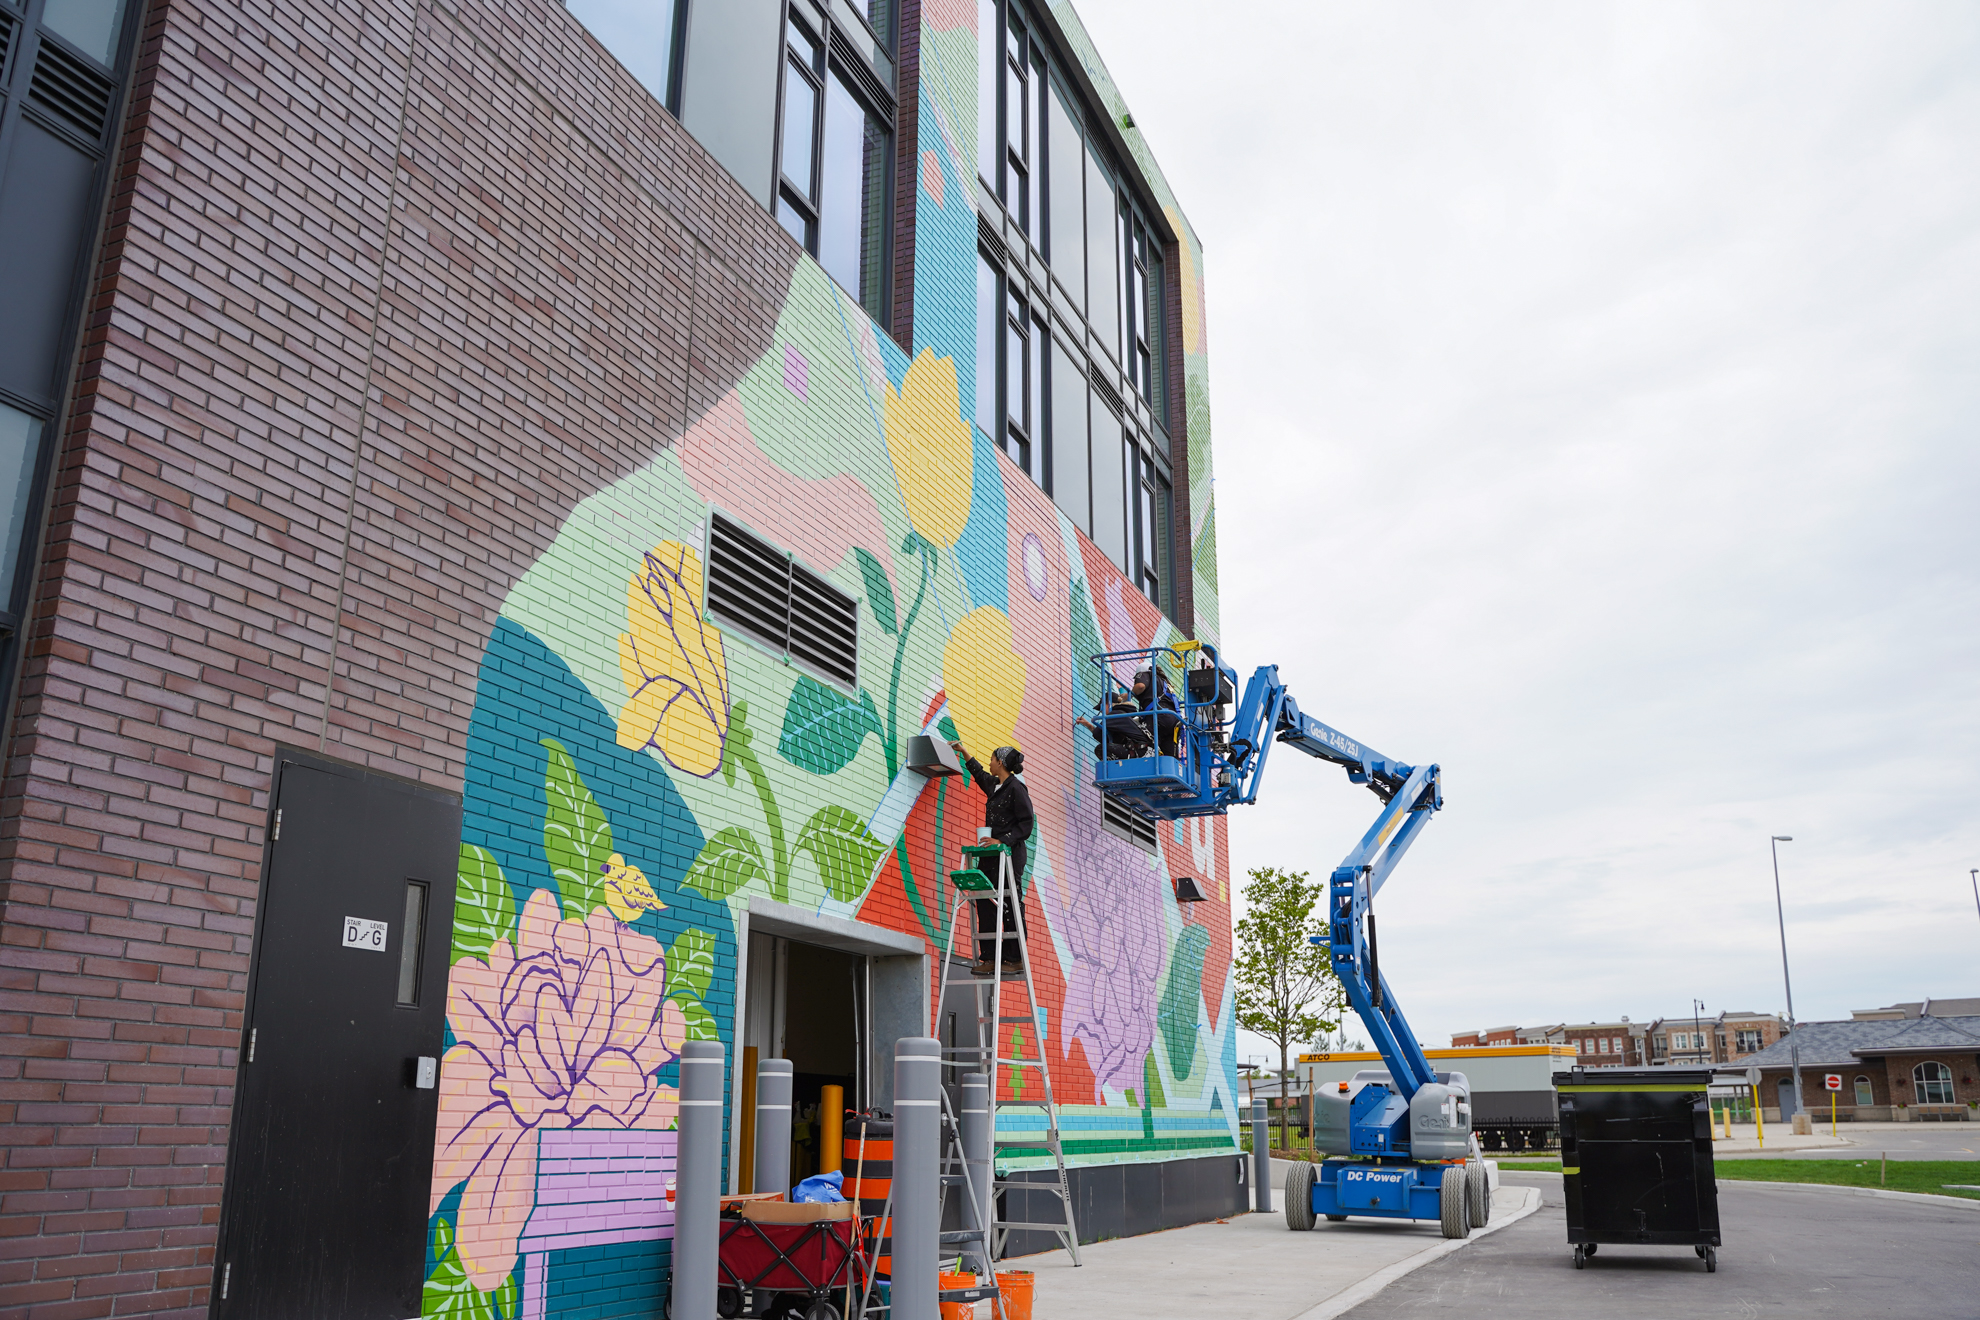
[[[1238,1205],[1224,821],[1071,724],[1218,598],[1202,249],[1069,6],[0,49],[0,1310],[653,1314],[685,1039],[885,1108],[952,1029],[923,730],[1028,754],[1087,1233]]]

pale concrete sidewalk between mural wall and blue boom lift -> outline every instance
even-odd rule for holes
[[[1436,1223],[1348,1219],[1311,1233],[1285,1227],[1283,1199],[1269,1215],[1238,1215],[1166,1233],[1081,1247],[1083,1267],[1063,1251],[1010,1265],[1038,1274],[1036,1320],[1093,1320],[1111,1314],[1190,1316],[1190,1320],[1327,1320],[1430,1265],[1467,1241],[1531,1215],[1533,1187],[1493,1193],[1491,1223],[1471,1239],[1445,1239]]]

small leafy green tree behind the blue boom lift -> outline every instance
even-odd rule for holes
[[[1346,991],[1327,956],[1327,883],[1305,871],[1257,867],[1243,887],[1238,922],[1238,1025],[1279,1045],[1279,1094],[1285,1098],[1287,1053],[1340,1025]],[[1323,944],[1313,944],[1313,938]],[[1279,1144],[1287,1146],[1285,1104]]]

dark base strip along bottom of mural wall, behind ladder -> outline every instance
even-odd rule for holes
[[[1251,1203],[1249,1160],[1241,1154],[1202,1156],[1196,1160],[1164,1160],[1160,1164],[1101,1164],[1065,1170],[1073,1193],[1073,1223],[1081,1243],[1103,1243],[1109,1237],[1135,1237],[1178,1229],[1186,1223],[1206,1223],[1241,1215]],[[1012,1181],[1055,1181],[1051,1170],[1012,1174]],[[1000,1219],[1051,1223],[1059,1217],[1059,1197],[1036,1191],[1002,1191]],[[1053,1251],[1059,1239],[1051,1233],[1018,1231],[1010,1235],[1006,1257]]]

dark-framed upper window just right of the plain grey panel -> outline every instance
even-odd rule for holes
[[[885,321],[893,127],[859,81],[824,34],[788,20],[776,218]]]

